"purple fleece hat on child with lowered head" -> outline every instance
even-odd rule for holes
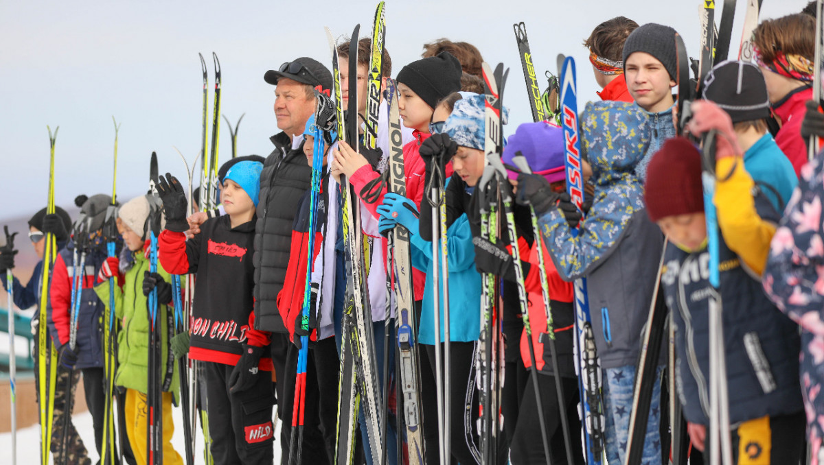
[[[521,152],[535,174],[543,175],[550,183],[566,179],[564,172],[564,130],[555,124],[523,123],[509,137],[503,147],[503,162],[513,165],[513,157]],[[517,173],[507,170],[509,179]]]

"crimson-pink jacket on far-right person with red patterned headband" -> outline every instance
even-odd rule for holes
[[[775,116],[781,122],[775,143],[793,164],[796,176],[801,175],[801,167],[808,161],[807,143],[801,137],[801,122],[807,114],[806,102],[811,99],[812,87],[799,87],[773,105]]]

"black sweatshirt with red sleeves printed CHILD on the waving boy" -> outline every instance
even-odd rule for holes
[[[228,215],[200,226],[188,241],[183,233],[164,230],[159,259],[172,274],[197,273],[190,321],[190,358],[236,365],[242,344],[264,347],[260,370],[272,370],[269,332],[253,329],[255,218],[232,228]]]

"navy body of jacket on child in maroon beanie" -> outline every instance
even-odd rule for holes
[[[777,215],[763,196],[762,217]],[[730,421],[801,412],[798,326],[764,294],[728,249],[719,232],[723,346],[727,364]],[[662,286],[676,325],[678,394],[687,421],[709,424],[709,253],[687,253],[667,245]]]

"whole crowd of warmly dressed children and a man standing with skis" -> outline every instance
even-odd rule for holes
[[[101,449],[103,393],[101,337],[98,328],[110,301],[107,282],[115,277],[115,314],[120,321],[119,368],[115,384],[124,388],[120,427],[128,434],[121,444],[127,458],[146,461],[145,404],[147,402],[146,295],[157,290],[161,314],[174,302],[171,274],[196,274],[190,332],[174,341],[162,338],[162,350],[188,356],[199,365],[198,382],[207,402],[209,453],[215,463],[271,463],[275,398],[283,419],[280,446],[290,456],[292,411],[295,405],[297,351],[301,336],[309,336],[307,388],[304,396],[302,459],[331,463],[335,458],[335,431],[339,391],[339,356],[347,281],[342,188],[354,187],[363,234],[368,241],[370,301],[367,315],[375,341],[384,340],[386,319],[396,318],[394,292],[386,290],[385,233],[403,227],[410,233],[415,313],[419,351],[421,418],[426,463],[438,463],[438,373],[436,345],[444,342],[434,328],[435,312],[448,300],[451,370],[450,409],[444,412],[452,427],[447,440],[452,460],[480,463],[479,392],[476,359],[480,337],[481,273],[493,274],[501,286],[501,328],[504,349],[503,435],[501,463],[543,463],[539,419],[546,419],[552,463],[583,463],[586,453],[578,440],[578,382],[574,361],[574,289],[572,281],[588,280],[592,330],[603,379],[602,412],[606,459],[624,463],[630,434],[630,412],[639,340],[648,323],[650,305],[666,305],[675,327],[678,401],[688,422],[687,432],[697,451],[709,445],[709,251],[702,171],[714,174],[714,197],[719,228],[720,300],[723,301],[723,351],[727,360],[729,417],[736,463],[798,463],[805,457],[805,441],[817,459],[824,438],[824,403],[817,400],[824,379],[822,360],[821,259],[824,257],[821,204],[822,160],[808,161],[805,137],[824,136],[824,119],[812,97],[811,81],[814,18],[806,14],[766,20],[755,31],[756,63],[725,61],[708,73],[700,100],[691,105],[691,119],[680,121],[677,87],[676,31],[654,23],[638,26],[623,16],[606,21],[585,41],[602,101],[588,103],[579,116],[587,181],[585,202],[574,205],[566,192],[563,130],[554,122],[517,126],[503,148],[508,167],[517,156],[531,166],[531,174],[508,173],[517,202],[514,205],[517,243],[507,234],[490,241],[481,237],[480,189],[485,171],[485,97],[472,64],[482,61],[477,49],[465,43],[427,47],[427,57],[407,64],[396,75],[398,108],[405,129],[403,165],[405,196],[392,193],[376,181],[387,169],[390,154],[389,119],[382,100],[377,147],[362,141],[343,142],[336,126],[321,121],[322,112],[298,111],[292,102],[328,103],[331,74],[311,58],[284,63],[266,73],[276,86],[279,128],[276,150],[263,160],[234,159],[221,170],[217,212],[187,218],[187,199],[180,182],[166,174],[157,179],[162,200],[163,232],[159,236],[159,266],[148,271],[149,217],[152,194],[119,207],[117,227],[123,248],[117,258],[104,253],[106,196],[82,199],[82,211],[91,217],[88,238],[92,251],[83,287],[82,319],[77,349],[68,346],[68,291],[71,289],[73,248],[68,215],[39,212],[30,221],[30,238],[42,249],[43,233],[54,234],[62,252],[50,283],[49,332],[59,350],[59,379],[82,371],[87,403],[95,418],[96,443]],[[371,42],[358,42],[358,76],[347,75],[349,44],[340,44],[342,88],[358,79],[358,113],[366,113],[366,79]],[[452,53],[450,53],[452,52]],[[385,53],[382,84],[391,76]],[[482,82],[482,81],[481,81]],[[283,101],[281,101],[283,100]],[[287,101],[288,100],[288,101]],[[285,102],[285,103],[283,103]],[[279,105],[282,105],[279,107]],[[323,105],[316,105],[321,108]],[[279,108],[288,111],[279,111]],[[502,123],[508,123],[506,109]],[[510,123],[511,124],[511,123]],[[320,198],[311,212],[308,189],[315,137],[323,129]],[[331,127],[335,127],[332,129]],[[702,158],[695,141],[718,133],[714,159]],[[804,133],[804,137],[802,136]],[[285,135],[284,135],[285,134]],[[688,138],[686,136],[691,136]],[[704,165],[702,165],[702,160]],[[709,163],[709,168],[708,168]],[[446,178],[446,244],[449,295],[433,274],[432,208],[425,192],[435,172]],[[801,183],[799,184],[798,176]],[[341,184],[344,183],[344,187]],[[281,204],[278,206],[277,204]],[[288,207],[288,215],[283,210]],[[533,213],[534,212],[534,213]],[[782,216],[782,212],[784,215]],[[315,214],[314,230],[309,217]],[[532,228],[536,216],[540,235]],[[217,215],[215,217],[215,215]],[[503,221],[503,219],[502,219]],[[291,224],[290,228],[284,225]],[[267,232],[267,230],[269,232]],[[502,230],[506,230],[502,228]],[[313,235],[314,249],[309,250]],[[40,246],[38,245],[40,244]],[[530,296],[523,309],[517,298],[517,274],[512,249],[520,250],[523,286]],[[39,253],[40,249],[38,249]],[[13,267],[14,253],[0,248],[0,268]],[[275,257],[279,253],[279,258]],[[549,284],[555,353],[546,342],[541,298],[541,256]],[[308,328],[302,322],[307,263],[311,263],[311,306]],[[658,263],[663,263],[660,269]],[[16,304],[33,305],[39,274],[25,288],[14,286]],[[658,298],[658,280],[662,297]],[[441,286],[436,289],[434,286]],[[274,291],[273,291],[274,290]],[[435,302],[439,295],[440,302]],[[389,308],[389,313],[386,309]],[[529,313],[529,328],[522,312]],[[789,318],[788,318],[789,317]],[[799,337],[798,327],[801,332]],[[165,327],[164,327],[165,328]],[[392,329],[390,329],[392,330]],[[166,330],[162,331],[166,334]],[[288,334],[283,336],[283,334]],[[531,337],[530,337],[531,334]],[[390,335],[392,336],[392,335]],[[537,358],[531,366],[530,346]],[[377,365],[389,354],[376,344]],[[557,372],[553,370],[553,360]],[[183,463],[171,447],[172,404],[177,400],[177,364],[163,394],[164,458]],[[167,361],[168,360],[168,361]],[[658,360],[660,379],[666,360]],[[387,365],[392,383],[395,372]],[[272,372],[274,370],[274,377]],[[537,377],[539,396],[530,387]],[[561,379],[555,383],[555,377]],[[277,379],[277,389],[273,379]],[[560,387],[560,396],[558,396]],[[393,390],[389,389],[392,393]],[[277,393],[275,395],[275,393]],[[56,405],[73,393],[59,393]],[[564,399],[564,418],[558,399]],[[538,402],[541,401],[541,402]],[[644,440],[643,463],[663,463],[661,384],[653,398]],[[391,410],[402,412],[402,399],[392,396]],[[541,405],[543,411],[538,409]],[[56,407],[56,410],[59,407]],[[360,413],[361,434],[357,463],[377,463]],[[387,434],[386,449],[394,463],[404,452],[404,436]],[[565,444],[562,425],[573,432]],[[55,423],[57,425],[57,423]],[[55,434],[54,453],[89,463],[86,449],[71,423]],[[807,435],[804,435],[806,429]],[[63,449],[63,436],[72,448]],[[400,442],[396,439],[400,438]],[[706,444],[705,444],[706,442]],[[568,445],[571,445],[568,449]],[[128,448],[128,452],[127,449]],[[693,452],[697,455],[698,453]],[[697,458],[697,457],[696,457]],[[747,462],[751,460],[753,462]]]

